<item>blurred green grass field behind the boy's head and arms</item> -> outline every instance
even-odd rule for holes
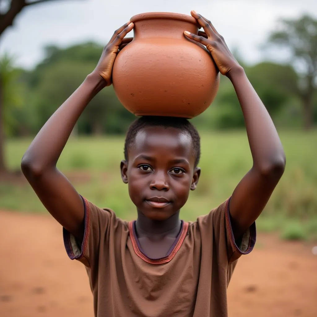
[[[281,132],[286,152],[285,173],[267,207],[257,221],[260,231],[277,231],[285,239],[317,240],[317,131]],[[10,140],[6,160],[10,169],[19,169],[27,140]],[[83,196],[100,207],[115,210],[124,219],[136,211],[127,186],[120,178],[123,137],[73,138],[68,141],[58,167],[66,175],[85,171],[87,181],[74,181]],[[228,198],[252,164],[244,131],[203,133],[202,175],[197,190],[191,192],[181,215],[194,220]],[[8,184],[0,180],[0,209],[46,212],[28,184]]]

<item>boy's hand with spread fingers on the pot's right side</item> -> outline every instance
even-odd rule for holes
[[[197,36],[196,34],[184,31],[184,35],[206,46],[221,74],[228,76],[233,69],[241,68],[228,49],[223,36],[217,32],[211,22],[195,11],[191,11],[191,15],[204,28],[206,34],[199,32]]]

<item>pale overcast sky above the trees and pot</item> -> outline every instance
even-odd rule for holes
[[[260,61],[265,42],[280,17],[309,13],[317,18],[316,0],[54,0],[25,8],[0,40],[0,55],[8,52],[16,64],[32,68],[43,58],[43,47],[93,40],[103,45],[131,16],[149,11],[209,18],[230,49],[237,48],[249,63]]]

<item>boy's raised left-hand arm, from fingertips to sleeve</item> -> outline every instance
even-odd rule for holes
[[[84,235],[83,202],[68,179],[57,170],[56,163],[89,101],[102,88],[111,85],[113,62],[119,46],[132,29],[133,23],[130,23],[114,32],[94,71],[44,124],[22,158],[23,174],[43,205],[78,239]]]

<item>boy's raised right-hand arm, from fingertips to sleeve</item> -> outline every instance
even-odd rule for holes
[[[210,21],[191,11],[206,36],[185,36],[200,42],[210,51],[221,74],[235,88],[242,108],[253,166],[236,186],[229,209],[235,238],[239,238],[260,215],[285,168],[285,154],[275,126],[243,68],[230,53],[222,36]],[[189,33],[189,34],[188,34]]]

